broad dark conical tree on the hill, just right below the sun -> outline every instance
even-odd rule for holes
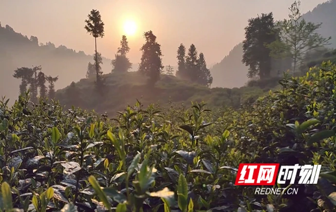
[[[142,52],[141,62],[139,65],[139,72],[149,77],[149,85],[154,86],[155,82],[159,80],[162,65],[161,45],[157,43],[156,36],[152,31],[144,33],[146,42],[141,47]]]

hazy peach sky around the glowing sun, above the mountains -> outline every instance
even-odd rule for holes
[[[113,58],[125,34],[123,25],[131,19],[137,25],[128,36],[131,62],[140,62],[143,32],[152,30],[162,46],[164,65],[176,65],[180,43],[188,49],[194,43],[208,64],[220,62],[244,39],[247,19],[273,12],[275,19],[288,16],[294,0],[0,0],[1,25],[36,36],[39,42],[53,42],[87,54],[94,52],[94,39],[86,33],[84,20],[92,9],[100,11],[105,37],[97,48]],[[326,0],[301,0],[301,11],[312,10]]]

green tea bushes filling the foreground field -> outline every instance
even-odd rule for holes
[[[21,96],[0,103],[1,210],[332,212],[336,66],[284,77],[240,109],[138,102],[116,119]],[[240,163],[322,164],[296,195],[235,186]]]

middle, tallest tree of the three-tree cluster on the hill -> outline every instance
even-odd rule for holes
[[[199,82],[199,68],[198,68],[198,55],[194,44],[190,45],[188,55],[186,57],[186,73],[187,79],[193,82]]]

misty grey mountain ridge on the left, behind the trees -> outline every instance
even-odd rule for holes
[[[37,37],[28,39],[10,26],[0,24],[0,97],[6,96],[11,102],[19,96],[20,80],[13,77],[15,69],[41,65],[46,75],[58,76],[55,86],[60,89],[85,78],[89,62],[94,63],[93,55],[63,45],[56,47],[51,42],[39,44]],[[101,66],[104,73],[110,73],[111,59],[103,57]]]

